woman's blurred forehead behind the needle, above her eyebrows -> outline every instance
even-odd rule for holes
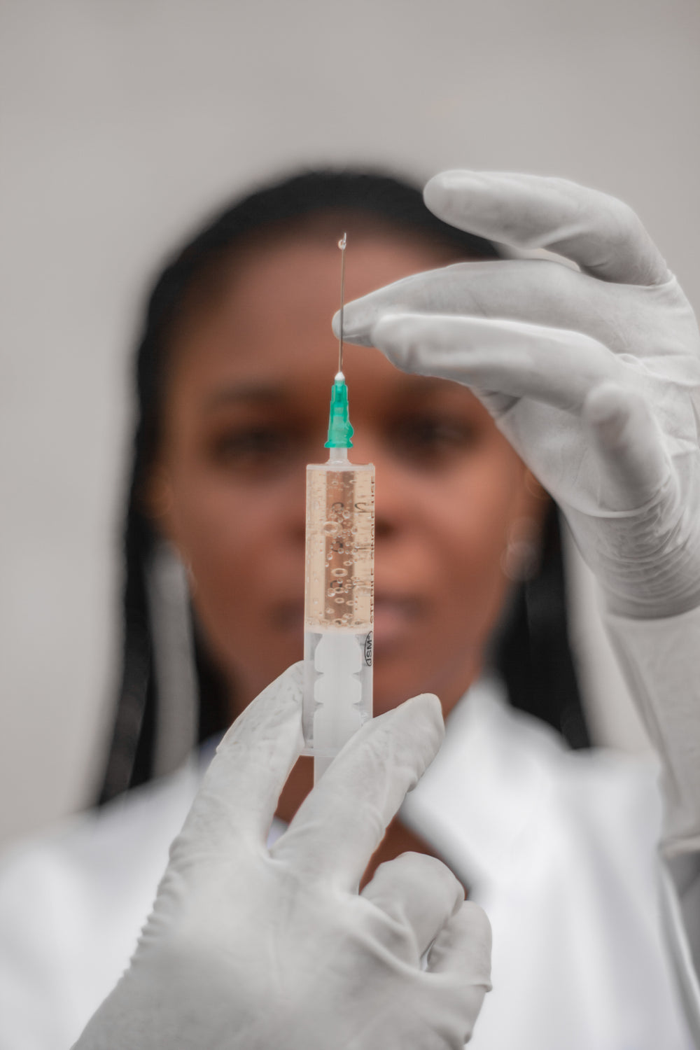
[[[331,319],[340,306],[343,232],[326,223],[237,252],[209,294],[195,295],[185,312],[171,344],[171,375],[185,370],[190,381],[225,375],[254,381],[273,374],[311,377],[320,369],[332,377],[337,340]],[[453,251],[399,231],[358,231],[347,240],[345,299],[453,260]],[[347,368],[378,357],[351,346]]]

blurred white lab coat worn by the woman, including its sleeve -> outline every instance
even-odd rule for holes
[[[441,753],[404,803],[406,823],[491,919],[494,988],[475,1050],[695,1045],[697,985],[679,898],[664,897],[671,882],[658,845],[690,858],[692,894],[700,612],[617,621],[613,631],[650,735],[673,768],[665,817],[655,761],[570,752],[548,727],[511,710],[491,681],[452,712]],[[201,765],[193,761],[7,858],[0,1050],[52,1050],[78,1037],[127,965]],[[272,834],[280,831],[276,823]]]

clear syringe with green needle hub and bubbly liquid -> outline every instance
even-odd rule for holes
[[[347,459],[353,427],[342,373],[345,244],[343,235],[328,460],[306,467],[303,754],[314,756],[315,780],[372,718],[375,468]]]

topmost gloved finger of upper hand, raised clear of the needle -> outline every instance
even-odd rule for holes
[[[671,273],[635,212],[565,178],[443,171],[424,190],[440,218],[516,248],[547,248],[603,280],[660,285]]]

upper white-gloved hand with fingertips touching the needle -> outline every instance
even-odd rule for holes
[[[611,611],[700,605],[700,338],[637,216],[534,175],[448,171],[425,201],[580,272],[510,259],[419,274],[347,303],[345,338],[474,391],[561,507]]]

